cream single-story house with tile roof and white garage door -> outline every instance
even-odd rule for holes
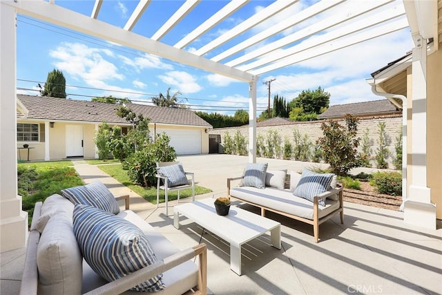
[[[151,120],[151,135],[165,132],[178,155],[209,153],[211,124],[189,109],[126,104]],[[21,160],[97,158],[95,133],[104,120],[121,126],[131,123],[117,116],[115,104],[86,100],[17,95],[17,147]],[[23,149],[27,144],[30,149]]]

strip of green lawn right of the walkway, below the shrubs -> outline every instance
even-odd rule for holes
[[[151,202],[152,204],[157,203],[157,189],[156,187],[151,187],[149,189],[145,189],[144,187],[141,187],[140,185],[133,184],[131,180],[128,178],[127,171],[122,169],[121,164],[115,164],[115,165],[99,165],[99,169],[102,169],[104,172],[111,175],[113,178],[124,184],[129,189],[132,189],[135,191],[135,193],[142,196],[145,200],[148,202]],[[198,185],[195,185],[195,195],[201,195],[202,193],[210,193],[210,189],[206,189],[205,187],[200,187]],[[176,200],[177,199],[177,191],[172,191],[168,193],[169,200]],[[192,196],[192,190],[191,189],[183,189],[180,191],[180,199],[181,198],[187,198]],[[164,202],[164,191],[160,191],[160,203]]]

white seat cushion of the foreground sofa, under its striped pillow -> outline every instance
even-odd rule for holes
[[[167,240],[159,231],[155,230],[148,222],[144,221],[133,211],[121,211],[117,216],[128,220],[143,231],[146,238],[151,242],[158,260],[162,260],[180,251],[172,242]],[[106,280],[95,274],[87,263],[84,263],[83,267],[83,293],[107,283]],[[155,292],[155,295],[182,294],[198,284],[198,267],[193,261],[189,260],[186,263],[177,265],[173,267],[173,269],[164,272],[162,280],[166,288],[160,292]],[[124,294],[140,295],[140,292],[127,291],[124,292]]]

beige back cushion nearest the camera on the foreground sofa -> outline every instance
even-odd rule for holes
[[[82,261],[72,217],[55,214],[46,223],[37,247],[39,294],[81,294]]]

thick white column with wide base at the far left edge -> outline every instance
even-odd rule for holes
[[[0,2],[0,251],[26,247],[28,213],[17,195],[16,12]]]

